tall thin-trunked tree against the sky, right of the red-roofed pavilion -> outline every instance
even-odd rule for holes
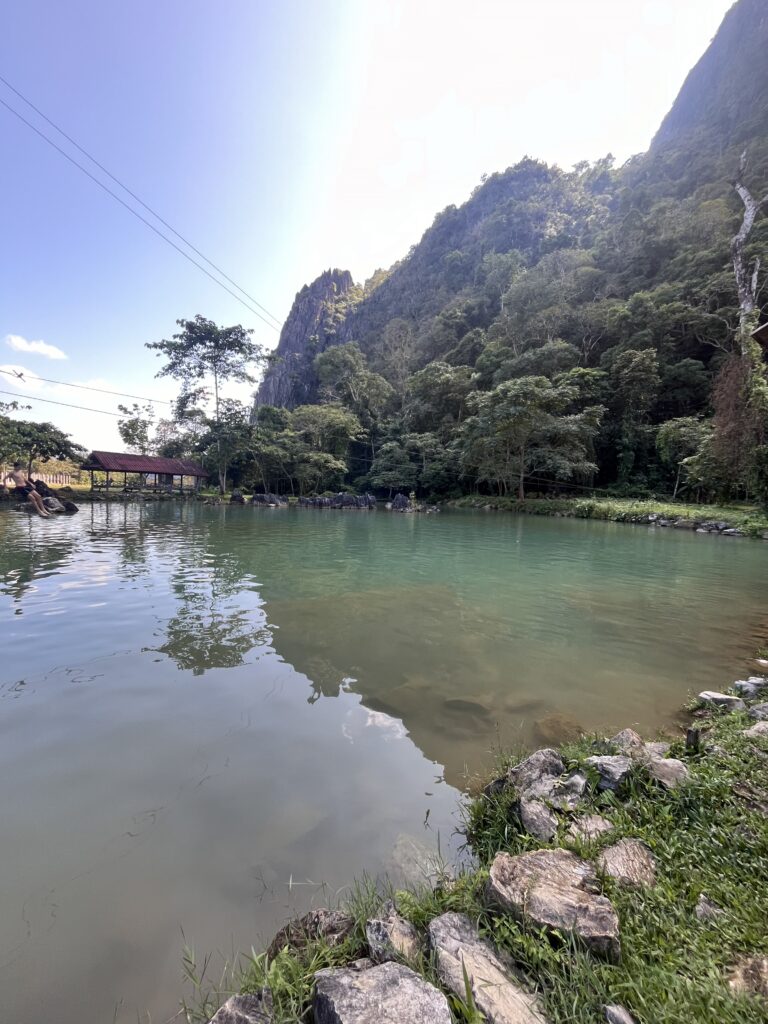
[[[195,319],[178,319],[176,323],[182,330],[171,339],[146,343],[147,348],[166,358],[166,365],[156,376],[180,380],[182,395],[191,390],[190,385],[200,385],[211,379],[214,420],[218,424],[221,414],[221,385],[226,381],[254,383],[249,367],[263,359],[261,346],[251,340],[253,331],[246,330],[240,324],[220,328],[200,314]],[[200,386],[194,390],[196,399],[199,399]],[[223,494],[226,487],[226,464],[220,436],[216,445],[219,492]]]

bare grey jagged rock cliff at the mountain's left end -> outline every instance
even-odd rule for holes
[[[312,359],[337,340],[339,326],[356,298],[348,270],[326,270],[301,289],[259,387],[257,406],[293,409],[312,400]]]

